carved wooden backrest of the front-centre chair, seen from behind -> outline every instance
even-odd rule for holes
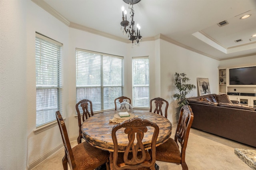
[[[144,133],[147,132],[147,127],[154,128],[154,134],[152,135],[151,141],[151,149],[152,153],[148,153],[145,150],[144,145],[142,144],[142,140],[144,137]],[[120,139],[116,137],[116,131],[120,128],[124,128],[124,132],[128,138],[128,145],[124,151],[123,163],[118,164],[118,140],[126,140]],[[159,127],[156,123],[152,123],[148,120],[133,118],[122,123],[115,125],[112,128],[112,140],[114,143],[114,153],[113,153],[113,167],[117,170],[122,169],[138,169],[141,167],[152,167],[156,162],[156,139],[158,137]],[[136,138],[136,139],[135,139]],[[136,143],[134,143],[136,141]],[[147,155],[150,155],[148,158]]]

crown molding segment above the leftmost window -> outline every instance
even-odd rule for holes
[[[44,0],[31,0],[38,6],[40,6],[42,9],[44,9],[46,12],[63,22],[65,25],[69,26],[70,21],[68,21],[66,18],[64,18],[62,15],[60,15],[56,10],[54,10],[50,5],[48,5]]]

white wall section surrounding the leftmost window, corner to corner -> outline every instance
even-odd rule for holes
[[[36,69],[35,69],[35,32],[39,32],[49,38],[52,38],[60,43],[63,43],[63,100],[62,100],[62,115],[68,118],[66,105],[68,105],[68,51],[69,51],[69,28],[54,18],[52,15],[45,12],[42,8],[34,4],[32,1],[23,1],[26,4],[26,43],[24,48],[28,54],[23,57],[27,60],[27,74],[24,75],[27,79],[28,93],[27,100],[23,101],[28,106],[26,115],[28,115],[27,123],[27,165],[34,162],[40,162],[44,159],[47,153],[62,143],[60,130],[58,126],[54,126],[38,134],[34,133],[36,129]],[[63,36],[66,35],[66,36]],[[68,120],[68,119],[67,119]],[[68,125],[68,123],[67,123]],[[31,167],[32,168],[32,167]]]

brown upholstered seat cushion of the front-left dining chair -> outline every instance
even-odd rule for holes
[[[90,145],[88,142],[82,142],[72,148],[76,167],[79,170],[94,170],[104,164],[110,153]]]

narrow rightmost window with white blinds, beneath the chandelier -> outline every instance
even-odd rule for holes
[[[132,57],[133,107],[149,107],[149,59]]]

